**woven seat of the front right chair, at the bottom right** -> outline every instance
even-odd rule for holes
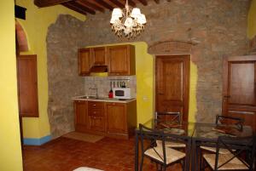
[[[216,154],[204,154],[203,157],[206,159],[207,163],[212,169],[215,165]],[[221,166],[224,162],[227,162],[233,154],[218,154],[218,166]],[[218,170],[246,170],[247,165],[241,162],[237,157],[233,158],[230,162],[224,164],[224,166],[218,168]]]

